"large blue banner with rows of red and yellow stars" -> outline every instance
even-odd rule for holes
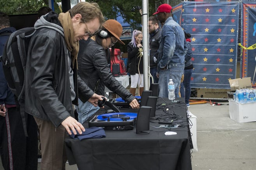
[[[193,88],[230,88],[236,78],[239,2],[184,2],[181,26],[191,34]]]

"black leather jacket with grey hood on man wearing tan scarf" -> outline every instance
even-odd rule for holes
[[[76,98],[71,101],[69,68],[72,63],[68,64],[71,55],[58,15],[49,12],[38,19],[34,27],[36,32],[30,40],[25,70],[25,111],[58,127],[68,116],[74,116],[72,102],[78,104],[78,91],[87,100],[94,92],[73,69]]]

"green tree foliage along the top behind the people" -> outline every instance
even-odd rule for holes
[[[142,7],[142,0],[86,0],[87,2],[97,2],[106,19],[117,19],[122,16],[134,29],[141,29],[141,14],[138,10],[131,11],[132,7]],[[155,12],[157,6],[166,3],[166,0],[148,1],[148,16]],[[54,9],[60,13],[60,9],[54,0]],[[36,14],[43,6],[49,6],[48,0],[0,0],[0,10],[8,15]]]

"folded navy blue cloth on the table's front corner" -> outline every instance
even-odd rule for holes
[[[85,132],[83,132],[82,134],[79,134],[77,131],[76,133],[77,134],[75,135],[72,132],[72,134],[69,136],[72,137],[73,139],[79,139],[80,141],[83,139],[96,139],[106,137],[104,129],[100,127],[85,128]]]

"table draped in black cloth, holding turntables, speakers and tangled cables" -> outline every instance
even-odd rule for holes
[[[159,98],[157,103],[164,101]],[[184,102],[169,106],[180,116],[178,120],[188,122]],[[100,109],[97,113],[101,112]],[[163,114],[163,111],[157,110],[156,117],[159,114]],[[192,170],[188,126],[171,128],[177,135],[166,136],[164,132],[170,130],[154,128],[159,125],[151,122],[149,134],[136,134],[134,128],[105,131],[106,138],[101,139],[79,141],[67,137],[65,144],[69,165],[77,164],[79,170]],[[84,126],[88,127],[88,122]]]

